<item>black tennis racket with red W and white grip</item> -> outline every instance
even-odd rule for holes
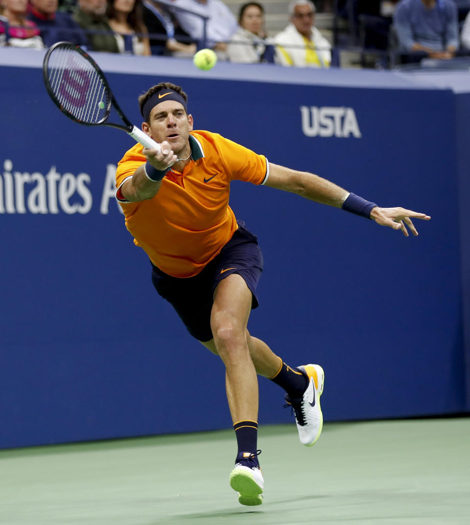
[[[126,131],[145,148],[160,151],[160,144],[135,127],[124,115],[105,75],[81,47],[70,42],[58,42],[51,46],[44,57],[43,77],[50,98],[74,122]],[[124,124],[108,122],[111,105]]]

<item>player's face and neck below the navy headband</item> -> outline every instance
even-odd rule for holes
[[[187,148],[189,132],[193,131],[193,117],[186,115],[180,102],[167,100],[152,109],[149,124],[144,122],[142,129],[156,142],[166,140],[178,155]]]

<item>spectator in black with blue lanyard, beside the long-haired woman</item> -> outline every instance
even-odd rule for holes
[[[143,20],[149,31],[152,55],[193,56],[196,53],[196,44],[191,42],[190,36],[157,2],[143,0]]]

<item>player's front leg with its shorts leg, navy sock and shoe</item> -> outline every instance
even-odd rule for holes
[[[246,325],[250,310],[258,306],[256,287],[263,254],[256,237],[242,223],[238,226],[210,265],[214,291],[211,329],[216,351],[226,366],[227,398],[238,446],[230,484],[239,492],[239,502],[259,505],[264,481],[257,459],[258,379]]]

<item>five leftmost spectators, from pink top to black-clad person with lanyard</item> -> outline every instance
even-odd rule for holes
[[[197,49],[176,17],[153,0],[0,0],[0,46],[41,49],[64,40],[131,55],[192,56]]]

